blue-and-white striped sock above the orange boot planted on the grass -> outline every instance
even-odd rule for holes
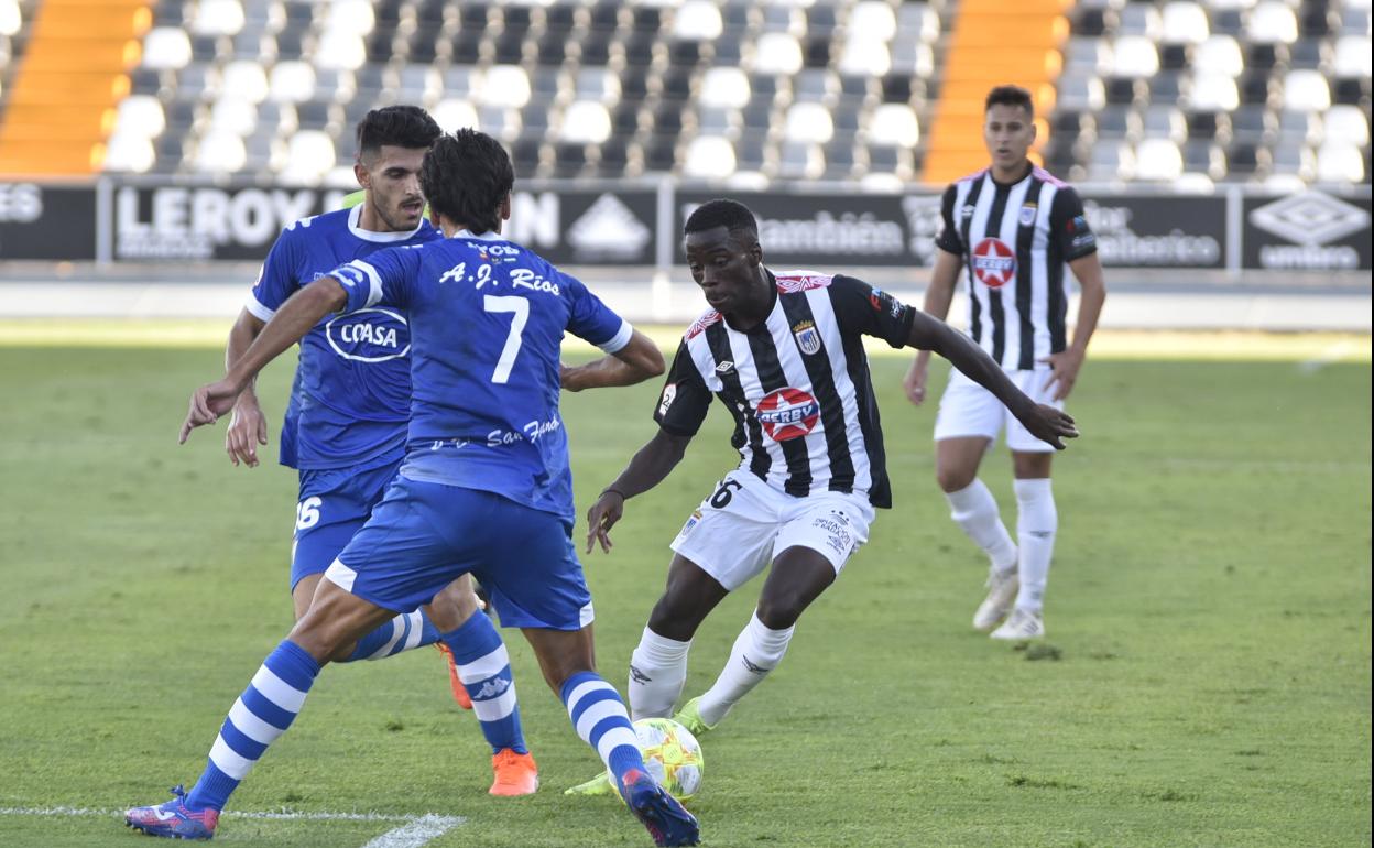
[[[453,653],[458,679],[473,698],[473,713],[482,726],[482,735],[492,753],[510,748],[529,753],[519,726],[519,702],[511,660],[496,625],[484,613],[473,613],[458,629],[441,636]]]

